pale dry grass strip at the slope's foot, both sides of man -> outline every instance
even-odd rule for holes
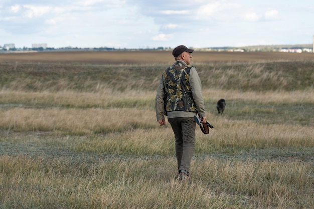
[[[25,92],[25,91],[0,91],[0,103],[5,106],[37,106],[37,107],[73,107],[73,108],[111,108],[111,107],[146,107],[154,106],[155,92],[128,91],[119,92],[103,88],[96,93],[92,92]],[[228,98],[229,101],[241,100],[253,104],[312,104],[314,92],[309,90],[296,91],[267,91],[255,92],[239,90],[204,89],[205,100],[218,101]]]

